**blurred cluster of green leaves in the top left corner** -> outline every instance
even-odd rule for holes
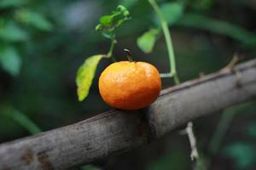
[[[30,39],[28,27],[38,31],[50,31],[51,23],[29,8],[28,0],[2,0],[0,2],[0,66],[10,75],[20,72],[21,57],[18,45]]]

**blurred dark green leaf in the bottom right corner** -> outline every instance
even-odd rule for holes
[[[247,169],[255,163],[255,150],[253,144],[235,143],[224,148],[224,155],[231,157],[239,169]]]

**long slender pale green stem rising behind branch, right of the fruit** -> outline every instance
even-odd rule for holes
[[[166,38],[166,46],[167,46],[167,50],[168,50],[168,56],[169,56],[169,61],[170,61],[170,75],[172,75],[175,84],[179,84],[179,78],[177,77],[177,71],[176,71],[176,62],[175,62],[175,55],[174,55],[174,50],[173,50],[173,46],[172,46],[172,37],[167,25],[167,22],[163,16],[163,14],[161,14],[160,12],[160,8],[158,6],[158,4],[155,2],[155,0],[148,0],[148,2],[152,5],[152,7],[154,8],[155,13],[158,15],[159,19],[160,19],[160,24],[162,27],[162,30],[164,32],[164,36]]]

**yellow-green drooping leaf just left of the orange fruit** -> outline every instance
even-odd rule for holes
[[[80,66],[76,77],[79,101],[83,101],[89,94],[90,86],[96,72],[96,66],[102,57],[103,55],[101,54],[93,55],[85,59],[84,64]]]

